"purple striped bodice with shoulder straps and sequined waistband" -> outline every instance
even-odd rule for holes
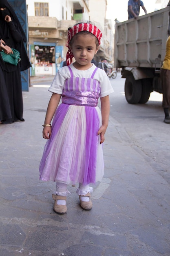
[[[91,78],[73,77],[73,72],[68,67],[71,78],[64,83],[62,93],[62,103],[77,106],[96,107],[99,99],[99,81],[93,79],[97,67],[95,68]]]

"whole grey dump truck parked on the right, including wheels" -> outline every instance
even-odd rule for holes
[[[170,1],[166,8],[115,23],[114,66],[126,78],[128,103],[146,103],[152,91],[162,93],[159,74],[169,35]]]

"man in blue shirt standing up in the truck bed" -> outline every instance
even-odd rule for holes
[[[128,20],[139,16],[140,7],[142,7],[145,14],[147,14],[144,3],[141,0],[128,0]]]

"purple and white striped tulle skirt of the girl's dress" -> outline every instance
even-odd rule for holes
[[[98,107],[60,104],[53,118],[52,133],[40,162],[40,180],[69,184],[100,181],[104,160]]]

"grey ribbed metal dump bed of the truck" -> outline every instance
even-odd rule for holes
[[[166,51],[170,7],[115,25],[114,66],[160,69]]]

